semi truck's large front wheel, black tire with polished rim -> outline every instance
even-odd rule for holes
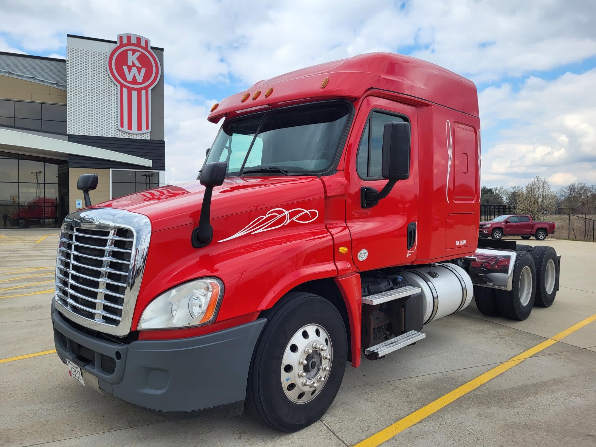
[[[291,292],[266,312],[247,384],[250,412],[274,429],[296,432],[335,399],[347,359],[342,315],[324,298]]]

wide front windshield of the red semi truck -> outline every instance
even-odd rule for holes
[[[328,101],[231,120],[206,163],[228,162],[226,176],[323,173],[336,158],[350,113],[349,103]]]

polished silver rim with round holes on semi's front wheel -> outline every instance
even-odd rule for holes
[[[307,324],[285,346],[281,362],[281,387],[294,403],[312,401],[321,394],[331,371],[333,347],[324,327]]]

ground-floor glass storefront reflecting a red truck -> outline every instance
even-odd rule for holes
[[[0,151],[0,228],[58,228],[68,212],[66,161]]]

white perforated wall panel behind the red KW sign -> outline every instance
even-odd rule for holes
[[[108,75],[107,42],[69,38],[66,50],[67,132],[76,135],[150,139],[118,129],[118,87]]]

